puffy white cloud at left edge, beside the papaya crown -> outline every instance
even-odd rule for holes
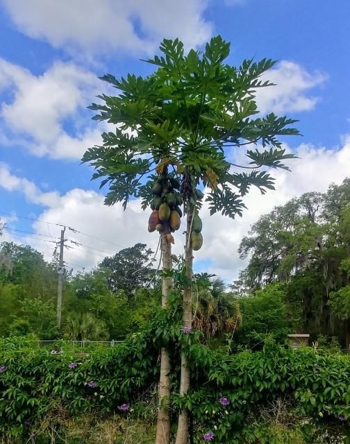
[[[88,116],[83,128],[76,122],[102,87],[94,74],[72,63],[56,62],[34,76],[0,59],[0,92],[10,92],[0,108],[2,142],[38,156],[80,159],[88,146],[101,141],[101,126]]]

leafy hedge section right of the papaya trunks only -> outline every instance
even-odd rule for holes
[[[267,427],[262,433],[262,418],[257,414],[278,398],[290,399],[290,407],[299,417],[309,418],[319,427],[334,418],[336,422],[342,415],[350,416],[350,360],[346,355],[324,355],[312,348],[291,350],[273,342],[265,343],[260,352],[245,351],[231,356],[203,345],[192,345],[189,352],[192,389],[174,402],[192,413],[199,429],[212,430],[215,442],[284,442],[281,433],[280,441],[276,433],[274,441],[267,441]],[[228,398],[229,405],[220,404],[222,396]],[[290,435],[290,443],[295,442],[292,433],[286,430],[284,434]],[[242,441],[242,436],[247,441]]]

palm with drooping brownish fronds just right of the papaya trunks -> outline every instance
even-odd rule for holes
[[[196,276],[193,326],[201,330],[205,341],[240,328],[242,314],[238,301],[226,292],[225,282],[207,273]]]

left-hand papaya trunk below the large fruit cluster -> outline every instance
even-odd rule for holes
[[[163,258],[163,271],[172,270],[172,246],[167,241],[167,234],[161,234],[161,249]],[[169,294],[172,291],[172,278],[163,278],[162,307],[168,308]],[[156,427],[156,444],[169,444],[170,441],[170,411],[169,411],[169,374],[170,357],[168,350],[160,350],[160,378],[159,378],[159,407]]]

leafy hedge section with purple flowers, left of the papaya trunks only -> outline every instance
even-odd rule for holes
[[[0,436],[22,436],[54,409],[72,418],[88,412],[111,413],[124,402],[134,402],[150,386],[158,368],[153,341],[135,336],[111,350],[88,357],[50,355],[29,341],[3,339],[0,374]],[[76,368],[69,364],[76,362]],[[90,381],[96,386],[88,386]],[[95,394],[96,393],[96,394]]]

